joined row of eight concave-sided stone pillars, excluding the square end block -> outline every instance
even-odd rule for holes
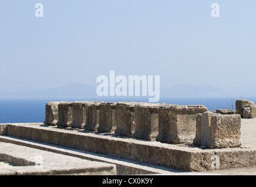
[[[186,143],[196,135],[205,106],[135,102],[49,102],[45,124],[116,133],[147,140]]]

